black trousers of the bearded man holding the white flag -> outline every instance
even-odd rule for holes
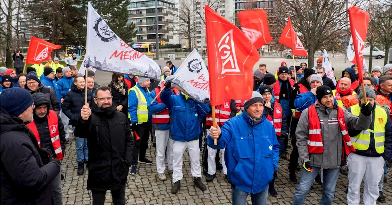
[[[120,189],[111,190],[114,205],[125,205],[125,183]],[[93,205],[104,205],[106,191],[91,191],[93,195]]]

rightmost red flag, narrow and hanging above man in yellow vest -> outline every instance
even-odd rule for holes
[[[365,48],[366,34],[369,24],[369,13],[356,6],[348,8],[352,43],[354,45],[355,58],[358,66],[358,81],[363,83],[363,48]]]

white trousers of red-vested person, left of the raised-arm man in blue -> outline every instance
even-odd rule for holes
[[[169,138],[170,130],[156,130],[156,171],[165,172],[165,152],[167,147],[167,166],[173,170],[173,140]]]

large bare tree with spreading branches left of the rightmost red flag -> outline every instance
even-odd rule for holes
[[[309,53],[309,67],[314,65],[314,53],[335,48],[347,42],[350,34],[346,4],[362,6],[367,0],[277,0],[278,9],[290,16],[294,30]],[[286,20],[283,19],[283,24]],[[344,47],[344,46],[343,46]],[[337,47],[339,48],[339,47]]]

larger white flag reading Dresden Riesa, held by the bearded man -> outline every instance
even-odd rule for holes
[[[135,51],[120,39],[94,10],[87,10],[87,52],[79,73],[85,68],[112,73],[131,74],[160,80],[161,69],[147,56]]]

